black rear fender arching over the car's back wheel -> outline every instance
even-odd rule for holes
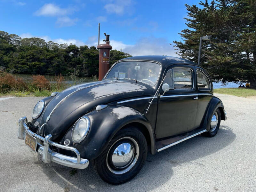
[[[225,110],[222,101],[218,97],[213,96],[207,106],[204,121],[202,124],[202,127],[205,128],[207,132],[210,130],[211,119],[213,113],[217,108],[220,109],[221,120],[226,120]]]

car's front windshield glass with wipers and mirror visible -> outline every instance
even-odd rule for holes
[[[133,79],[155,85],[160,73],[160,65],[146,61],[123,61],[111,68],[106,79]]]

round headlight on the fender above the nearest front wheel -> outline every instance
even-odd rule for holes
[[[80,143],[86,137],[90,128],[90,120],[87,116],[83,116],[76,121],[72,128],[72,140],[75,143]]]

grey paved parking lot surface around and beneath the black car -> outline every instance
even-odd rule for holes
[[[152,156],[130,182],[103,182],[85,170],[45,164],[17,138],[40,97],[0,98],[0,191],[256,191],[256,100],[215,94],[227,111],[213,138],[196,136]]]

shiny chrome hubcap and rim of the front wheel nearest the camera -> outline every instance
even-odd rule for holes
[[[117,140],[108,150],[108,169],[115,174],[123,174],[132,169],[138,157],[138,143],[131,137],[123,137]]]

